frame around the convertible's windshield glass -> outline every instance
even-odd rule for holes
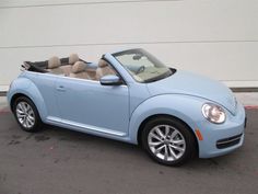
[[[167,71],[165,71],[164,73],[151,77],[149,79],[145,80],[138,80],[134,78],[134,76],[130,72],[130,70],[117,58],[119,56],[122,55],[129,55],[129,54],[141,54],[142,56],[148,57],[148,59],[150,60],[150,62],[152,62],[155,67],[164,67],[167,68]],[[154,82],[154,81],[159,81],[162,79],[165,79],[172,75],[175,73],[176,69],[174,68],[169,68],[167,66],[165,66],[163,62],[161,62],[157,58],[155,58],[153,55],[151,55],[149,52],[142,49],[142,48],[133,48],[133,49],[127,49],[127,50],[122,50],[122,52],[118,52],[118,53],[114,53],[112,54],[112,56],[126,69],[126,71],[132,77],[132,79],[137,82],[140,83],[150,83],[150,82]]]

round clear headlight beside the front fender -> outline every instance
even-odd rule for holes
[[[226,118],[224,110],[212,103],[206,103],[202,105],[202,114],[208,121],[215,124],[222,124]]]

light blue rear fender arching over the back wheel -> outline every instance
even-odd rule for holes
[[[23,94],[28,96],[36,105],[40,118],[45,121],[45,118],[47,117],[47,109],[39,90],[33,81],[25,77],[19,77],[12,82],[12,85],[8,91],[8,102],[10,104],[10,107],[12,98],[15,94]]]

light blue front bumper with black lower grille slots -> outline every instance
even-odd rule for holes
[[[199,140],[199,157],[212,158],[226,155],[244,142],[245,109],[238,104],[236,114],[233,116],[227,113],[226,122],[221,125],[202,121],[198,126],[203,136],[203,140]]]

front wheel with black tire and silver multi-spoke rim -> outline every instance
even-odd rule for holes
[[[181,166],[196,153],[191,129],[174,117],[156,117],[142,130],[142,145],[149,156],[161,164]]]

